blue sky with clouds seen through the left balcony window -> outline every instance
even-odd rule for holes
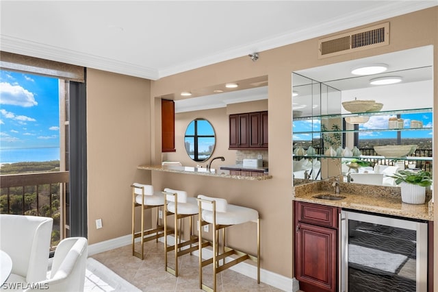
[[[0,149],[60,147],[58,80],[0,70]]]

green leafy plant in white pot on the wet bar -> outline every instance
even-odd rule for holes
[[[401,170],[391,178],[400,184],[402,202],[409,204],[424,204],[426,201],[426,186],[432,184],[432,175],[429,171]]]

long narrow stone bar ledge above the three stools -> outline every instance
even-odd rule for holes
[[[139,165],[137,169],[186,173],[193,175],[207,175],[216,178],[232,178],[234,180],[269,180],[272,178],[272,175],[268,175],[267,173],[258,174],[257,176],[231,175],[230,171],[226,169],[206,169],[203,167],[181,167],[174,165]]]

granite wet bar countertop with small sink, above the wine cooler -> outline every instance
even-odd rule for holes
[[[341,200],[316,199],[318,194],[333,194],[333,181],[311,182],[294,187],[294,200],[339,208],[362,210],[383,215],[433,221],[432,193],[426,192],[425,204],[402,203],[400,187],[341,183]]]

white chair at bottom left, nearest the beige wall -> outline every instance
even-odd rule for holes
[[[83,291],[87,256],[88,243],[85,237],[63,239],[56,247],[49,279],[32,283],[25,292]]]

